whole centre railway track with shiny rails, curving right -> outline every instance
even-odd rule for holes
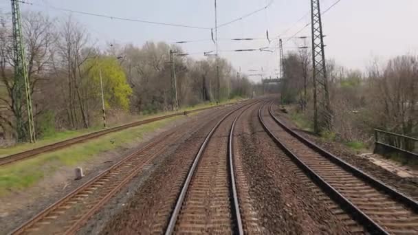
[[[236,190],[240,179],[234,173],[234,126],[243,111],[256,103],[230,111],[208,133],[181,187],[165,234],[243,234]]]

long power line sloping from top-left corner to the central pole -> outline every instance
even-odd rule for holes
[[[179,25],[179,24],[175,24],[175,23],[164,23],[164,22],[156,22],[156,21],[145,21],[145,20],[141,20],[141,19],[130,19],[130,18],[124,18],[124,17],[118,17],[118,16],[110,16],[107,14],[96,14],[96,13],[91,13],[91,12],[81,12],[78,10],[70,10],[70,9],[66,9],[66,8],[56,8],[52,5],[41,5],[41,4],[36,4],[36,3],[29,3],[26,1],[19,1],[19,3],[24,3],[27,5],[36,5],[39,7],[49,7],[52,8],[54,10],[59,10],[59,11],[63,11],[63,12],[70,12],[70,13],[76,13],[76,14],[85,14],[85,15],[89,15],[89,16],[97,16],[97,17],[102,17],[102,18],[107,18],[107,19],[117,19],[120,21],[133,21],[133,22],[140,22],[140,23],[149,23],[149,24],[154,24],[154,25],[166,25],[166,26],[173,26],[173,27],[187,27],[187,28],[192,28],[192,29],[197,29],[197,30],[210,30],[210,27],[199,27],[199,26],[193,26],[193,25]]]

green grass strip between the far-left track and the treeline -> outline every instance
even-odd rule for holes
[[[221,104],[228,104],[228,103],[234,103],[237,102],[239,100],[242,100],[240,98],[234,98],[232,100],[225,100],[223,102],[221,102]],[[216,102],[205,102],[205,103],[201,103],[201,104],[197,104],[195,106],[192,107],[185,107],[185,108],[181,108],[179,109],[179,112],[181,111],[190,111],[193,109],[203,109],[203,108],[208,108],[208,107],[212,107],[215,106]],[[153,118],[153,117],[160,117],[163,115],[169,115],[169,114],[173,114],[175,112],[173,111],[167,111],[167,112],[160,112],[160,113],[156,113],[156,114],[149,114],[149,115],[140,115],[137,118],[135,118],[134,122],[140,121],[140,120],[145,120],[148,118]],[[114,126],[119,126],[121,124],[117,124]],[[112,126],[109,126],[112,127]],[[66,139],[71,139],[74,137],[78,137],[80,135],[86,135],[88,133],[92,133],[94,131],[100,131],[101,130],[101,126],[95,126],[92,128],[87,128],[87,129],[80,129],[80,130],[76,130],[76,131],[59,131],[59,132],[55,132],[52,135],[43,137],[42,139],[38,139],[36,141],[36,143],[34,144],[30,144],[30,143],[22,143],[22,144],[16,144],[14,146],[10,146],[7,148],[0,148],[0,157],[6,157],[8,155],[12,155],[15,153],[21,153],[24,152],[26,150],[30,150],[32,148],[39,148],[48,144],[54,144],[56,142],[61,142],[64,141]]]

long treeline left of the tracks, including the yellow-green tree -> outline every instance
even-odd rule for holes
[[[104,89],[107,115],[155,113],[172,107],[170,49],[147,42],[142,47],[109,43],[99,49],[88,29],[71,16],[50,19],[39,12],[23,14],[28,73],[38,135],[55,129],[78,129],[101,122]],[[11,15],[0,13],[0,133],[14,139],[14,58]],[[249,97],[255,85],[239,76],[223,58],[194,60],[174,56],[179,106]],[[25,102],[22,103],[25,110]],[[23,115],[24,117],[26,115]]]

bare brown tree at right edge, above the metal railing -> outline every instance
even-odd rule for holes
[[[399,56],[383,71],[371,69],[369,107],[375,125],[410,135],[418,125],[418,62],[415,56]]]

